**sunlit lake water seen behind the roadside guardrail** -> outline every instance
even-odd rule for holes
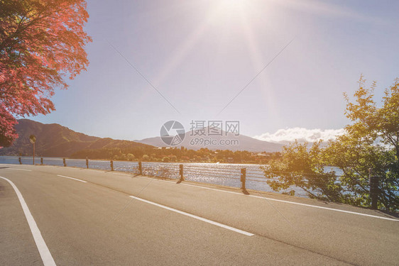
[[[32,165],[32,157],[21,157],[23,165]],[[86,168],[84,159],[66,159],[68,167]],[[19,164],[16,156],[0,156],[0,164]],[[35,164],[40,164],[40,157],[35,157]],[[43,157],[44,165],[63,166],[62,158]],[[261,165],[249,164],[215,164],[192,162],[142,162],[143,174],[155,177],[168,177],[180,179],[179,165],[183,165],[183,175],[186,180],[219,184],[227,187],[241,187],[241,168],[246,168],[246,188],[262,192],[273,192],[266,183],[266,177],[261,170]],[[89,160],[89,168],[98,170],[111,170],[109,160]],[[138,162],[114,161],[114,170],[138,174]],[[333,167],[333,170],[338,170]],[[290,187],[282,192],[295,191],[295,196],[307,197],[306,193],[298,187]]]

